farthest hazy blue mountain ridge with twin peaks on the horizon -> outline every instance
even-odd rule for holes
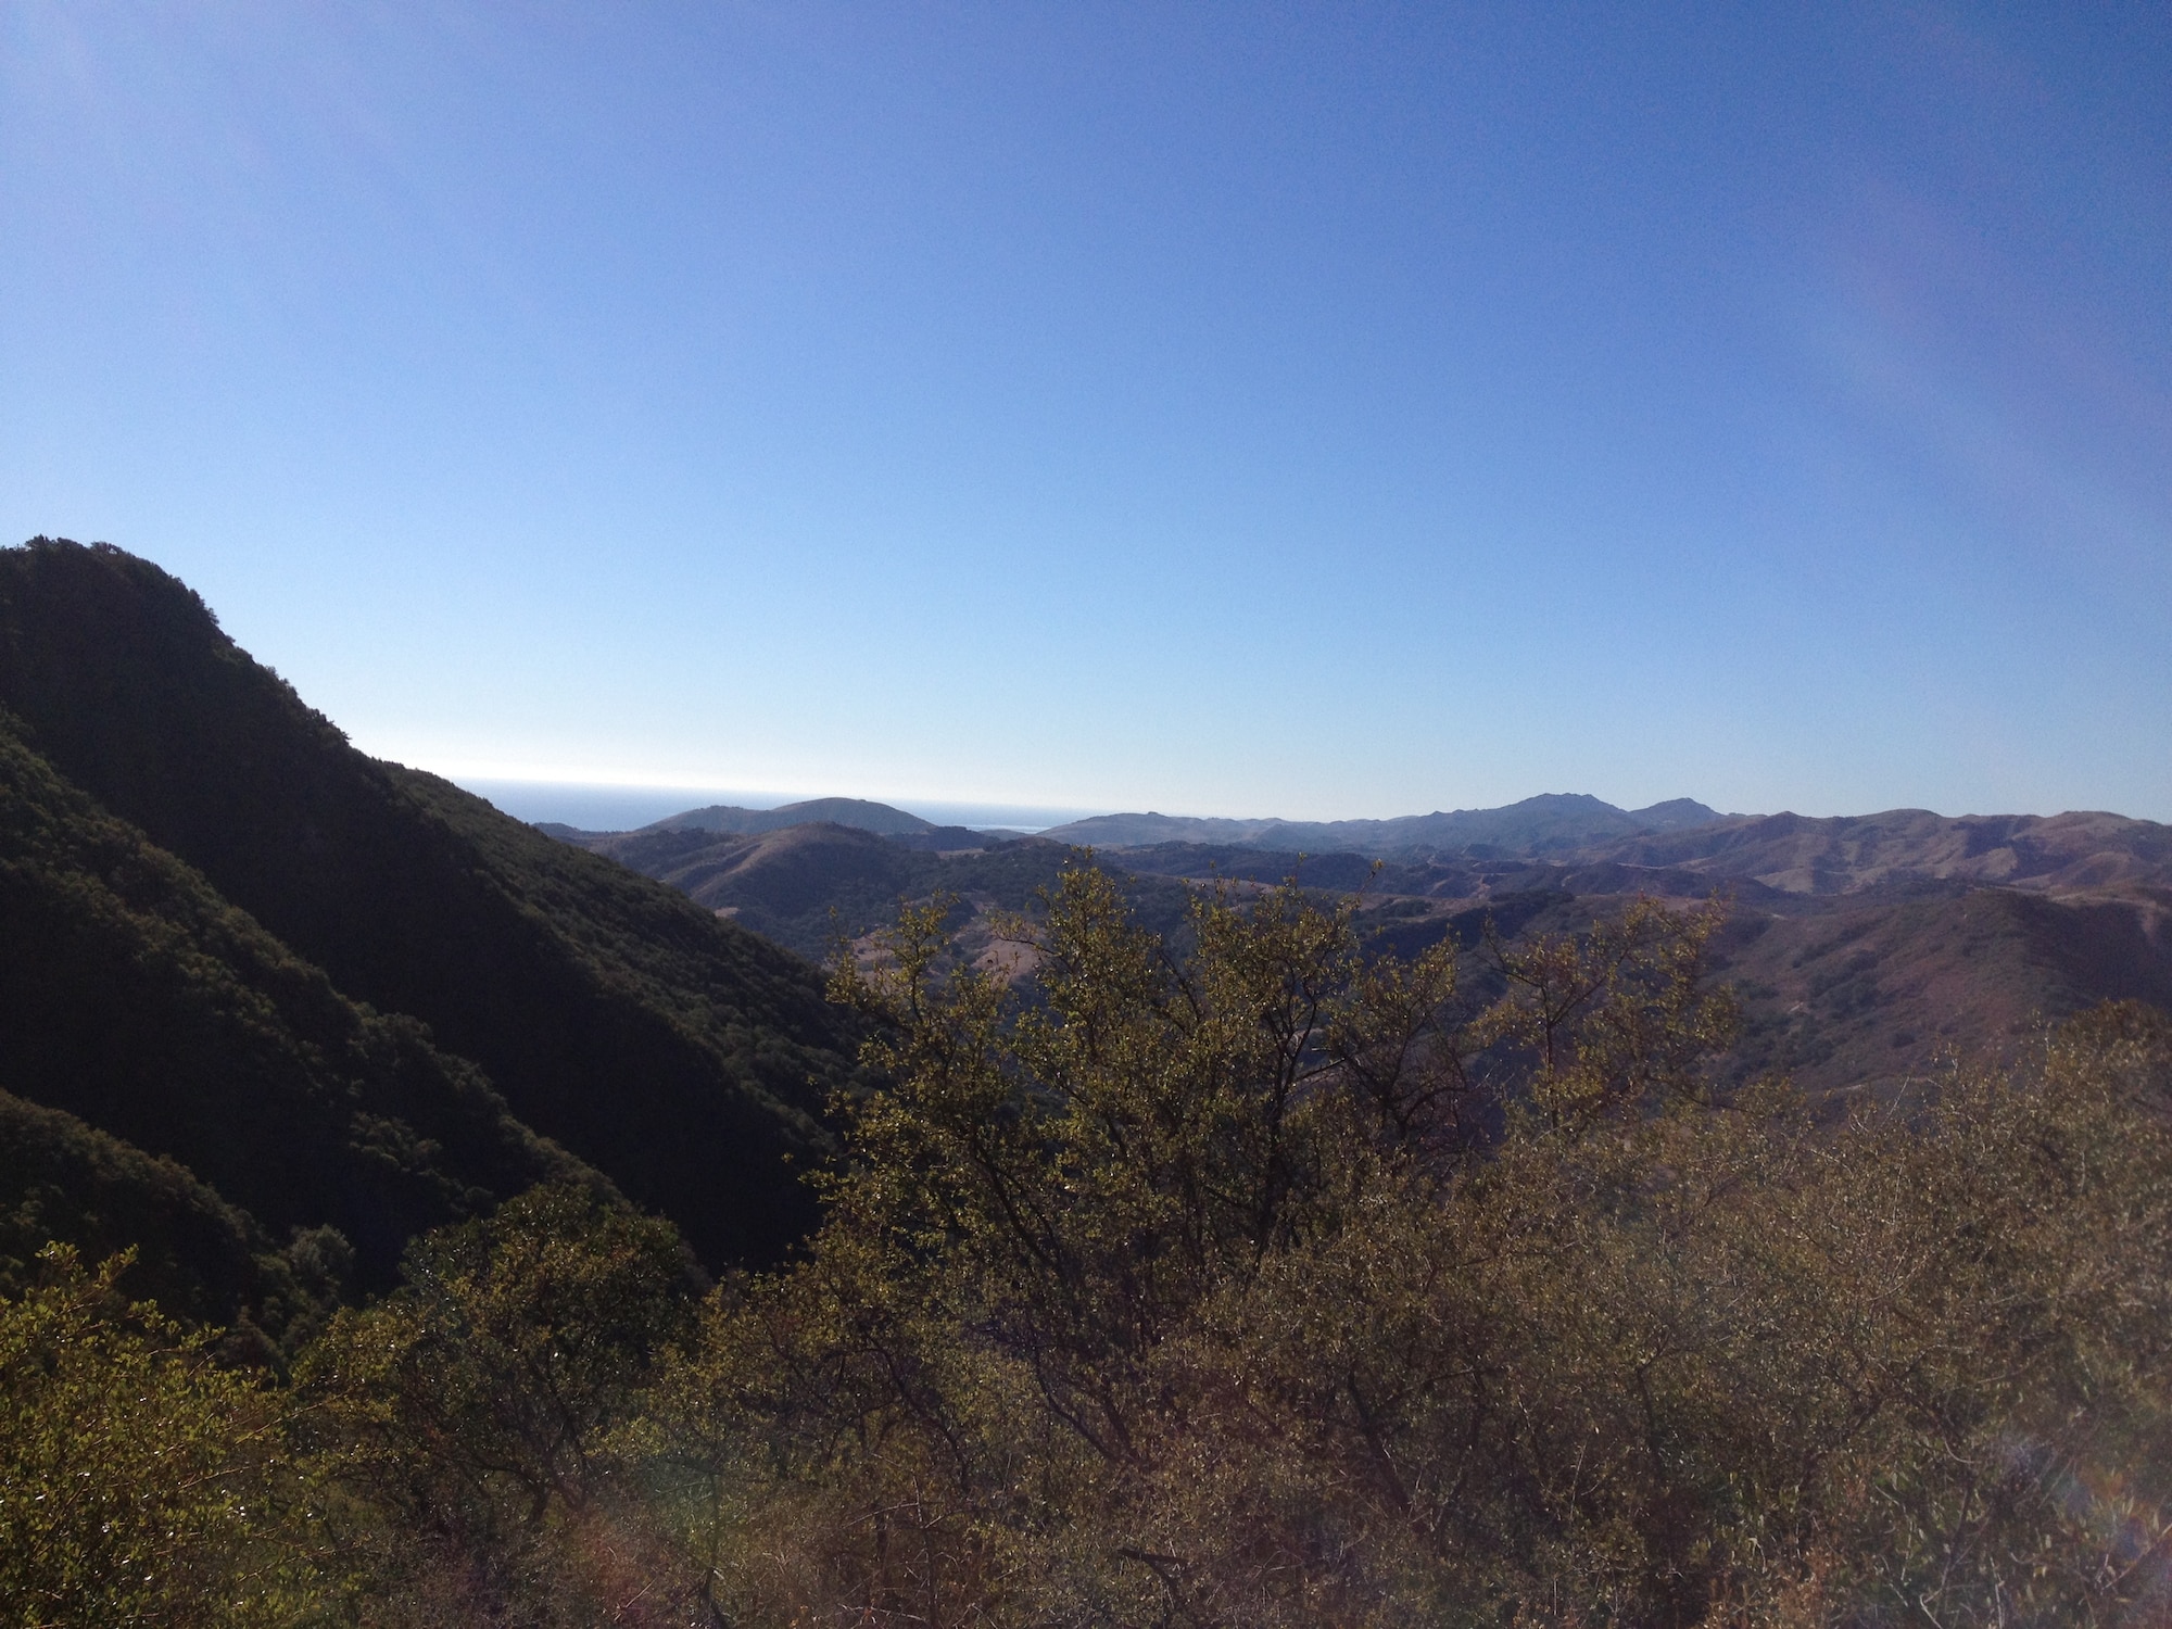
[[[1040,836],[1097,849],[1134,849],[1160,843],[1218,843],[1229,847],[1301,849],[1305,854],[1405,856],[1427,851],[1497,849],[1501,854],[1562,854],[1609,838],[1677,832],[1725,819],[1690,797],[1622,810],[1583,793],[1544,793],[1505,808],[1462,808],[1403,815],[1386,821],[1229,821],[1179,815],[1095,815]]]

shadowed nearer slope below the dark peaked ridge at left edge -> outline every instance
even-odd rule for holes
[[[0,1090],[182,1162],[278,1236],[339,1227],[365,1284],[417,1232],[584,1171],[4,723],[0,921]]]

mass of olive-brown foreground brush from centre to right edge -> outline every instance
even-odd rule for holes
[[[895,1082],[656,1388],[728,1620],[2120,1620],[2168,1581],[2172,1040],[1712,1101],[1716,912],[1453,964],[1295,893],[841,995]]]

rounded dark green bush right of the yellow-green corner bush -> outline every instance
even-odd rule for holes
[[[306,1440],[367,1622],[645,1622],[613,1434],[689,1323],[669,1223],[576,1186],[419,1240],[397,1292],[304,1360]]]

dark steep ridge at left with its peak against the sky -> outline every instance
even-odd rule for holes
[[[795,1162],[828,1142],[819,1110],[851,1077],[854,1038],[797,956],[367,758],[202,599],[119,550],[0,550],[0,706],[87,808],[200,875],[354,1012],[395,1027],[404,1014],[400,1045],[463,1060],[530,1136],[671,1216],[706,1262],[773,1260],[801,1236],[812,1203]],[[100,999],[104,975],[85,967],[80,997]],[[43,1086],[11,1090],[48,1101],[63,1053],[54,1043],[33,1071]],[[150,1090],[152,1064],[130,1069]],[[206,1114],[252,1134],[245,1116]],[[195,1166],[211,1151],[146,1138],[226,1192]]]

